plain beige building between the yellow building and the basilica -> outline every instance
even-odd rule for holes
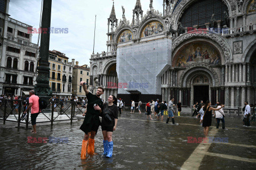
[[[73,79],[72,79],[72,94],[75,98],[85,98],[85,92],[80,86],[81,81],[85,81],[87,84],[90,84],[90,68],[85,64],[82,66],[76,65],[73,69]]]

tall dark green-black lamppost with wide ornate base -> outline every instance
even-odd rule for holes
[[[49,100],[52,95],[52,90],[49,86],[49,43],[50,43],[50,28],[51,28],[51,10],[52,0],[44,0],[42,14],[42,29],[47,28],[47,33],[41,33],[40,55],[37,66],[37,78],[35,85],[35,93],[39,97]]]

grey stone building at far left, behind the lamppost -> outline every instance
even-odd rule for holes
[[[26,23],[10,18],[10,0],[0,1],[0,94],[28,95],[36,83],[38,45]]]

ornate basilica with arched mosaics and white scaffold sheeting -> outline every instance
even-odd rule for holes
[[[166,0],[162,12],[137,0],[131,23],[122,8],[117,23],[113,4],[107,52],[91,56],[91,85],[106,88],[105,100],[256,103],[255,0]]]

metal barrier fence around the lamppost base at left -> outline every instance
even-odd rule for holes
[[[18,126],[16,128],[22,128],[20,126],[21,123],[21,116],[23,112],[29,105],[28,100],[9,100],[9,99],[1,99],[0,100],[0,120],[3,120],[3,124],[6,121],[17,122]],[[63,121],[58,120],[60,115],[66,115],[65,121],[70,121],[72,124],[74,118],[79,119],[76,117],[78,114],[83,114],[85,112],[85,103],[84,102],[75,102],[75,101],[47,101],[47,108],[43,109],[40,114],[46,117],[47,121],[43,122],[53,122],[55,121]],[[13,118],[10,118],[13,117]],[[9,120],[7,120],[9,118]],[[29,114],[27,114],[26,118],[26,128],[28,128],[29,121]]]

